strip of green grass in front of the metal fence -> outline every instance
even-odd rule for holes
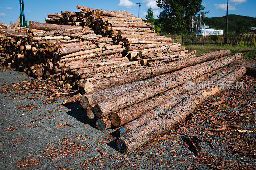
[[[194,49],[197,50],[195,55],[204,54],[207,52],[212,52],[213,50],[224,50],[229,49],[231,50],[231,55],[234,55],[236,53],[239,53],[239,50],[252,50],[251,52],[243,52],[241,53],[244,55],[243,59],[256,59],[256,45],[253,46],[244,46],[244,45],[223,45],[223,46],[217,46],[217,45],[187,45],[185,46],[186,49],[188,49],[188,52],[193,51]],[[236,51],[233,51],[236,50]]]

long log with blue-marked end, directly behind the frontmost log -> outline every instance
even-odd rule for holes
[[[220,71],[220,73],[217,73],[217,74],[213,75],[211,78],[208,78],[206,80],[206,82],[214,83],[215,81],[219,80],[220,78],[226,76],[228,73],[230,73],[231,71],[236,69],[236,67],[237,67],[237,65],[232,65],[232,66],[224,69],[223,71]],[[216,71],[214,71],[214,72],[216,72]],[[210,75],[210,73],[208,73],[208,75]],[[204,76],[207,76],[207,75],[205,74]],[[195,83],[195,85],[196,85],[196,83],[198,83],[200,81],[204,81],[204,76],[196,78],[196,80],[193,81]],[[154,119],[156,116],[159,116],[160,114],[166,112],[168,109],[171,109],[174,105],[176,105],[181,100],[188,97],[189,95],[195,93],[196,91],[198,91],[198,89],[194,87],[193,89],[190,89],[190,90],[186,91],[184,94],[181,94],[177,97],[174,97],[171,100],[168,100],[168,101],[166,101],[162,104],[159,104],[153,110],[145,113],[144,115],[142,115],[138,119],[133,120],[133,121],[127,123],[126,125],[122,126],[120,128],[120,136],[130,132],[132,129],[137,128],[137,127],[147,123],[148,121]]]

